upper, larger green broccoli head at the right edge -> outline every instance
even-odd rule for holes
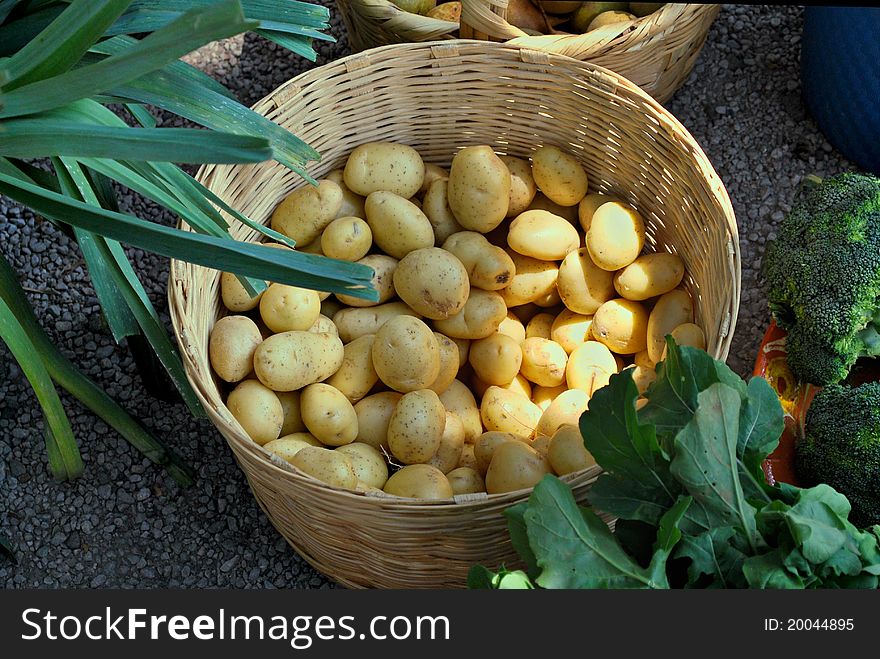
[[[880,178],[840,174],[807,192],[767,246],[764,277],[797,378],[840,382],[880,355]]]

